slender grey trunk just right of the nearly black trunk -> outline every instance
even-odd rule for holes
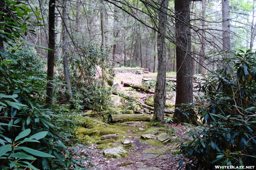
[[[66,10],[66,3],[67,0],[62,0],[63,9],[62,9],[62,42],[63,42],[63,48],[62,48],[62,55],[63,55],[63,69],[64,69],[64,80],[66,81],[66,89],[68,91],[68,95],[66,96],[67,104],[70,103],[70,99],[72,98],[72,89],[71,89],[71,83],[69,78],[69,65],[68,65],[68,33],[67,33],[67,10]]]

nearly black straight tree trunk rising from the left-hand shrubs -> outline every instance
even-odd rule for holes
[[[55,52],[55,0],[49,1],[49,42],[47,56],[47,88],[46,88],[46,100],[45,108],[52,107],[52,95],[53,95],[53,76],[54,76],[54,52]]]

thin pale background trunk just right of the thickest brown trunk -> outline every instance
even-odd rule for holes
[[[201,74],[206,74],[206,64],[205,64],[205,9],[206,9],[206,4],[205,4],[205,0],[202,0],[202,37],[201,37],[201,50],[200,50],[200,70],[201,70]]]

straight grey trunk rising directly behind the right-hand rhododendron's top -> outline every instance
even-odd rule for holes
[[[228,0],[222,0],[222,50],[230,51],[230,27]]]

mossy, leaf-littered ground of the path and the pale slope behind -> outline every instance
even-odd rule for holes
[[[121,81],[139,85],[142,83],[143,76],[147,76],[147,74],[117,72],[115,81],[119,85],[116,90],[130,95],[140,102],[145,102],[145,99],[152,94],[137,92],[130,87],[121,85]],[[175,96],[173,98],[175,99]],[[115,98],[114,100],[116,106],[123,104],[120,100]],[[156,126],[157,124],[152,122],[123,122],[116,124],[96,122],[96,124],[91,129],[85,127],[80,129],[79,132],[81,138],[89,141],[87,143],[87,148],[89,149],[80,149],[88,155],[91,163],[97,167],[88,167],[92,170],[174,170],[177,169],[179,162],[184,160],[180,154],[179,145],[189,140],[188,127],[170,122],[162,126]],[[114,130],[112,133],[118,133],[118,137],[100,140],[100,136],[111,134],[112,130]],[[170,140],[166,143],[159,141],[158,136],[161,133],[169,134]],[[142,139],[141,135],[143,134],[154,134],[155,136],[152,139]],[[125,139],[130,143],[122,144]],[[120,156],[119,159],[107,154],[106,149],[120,146],[127,153]]]

